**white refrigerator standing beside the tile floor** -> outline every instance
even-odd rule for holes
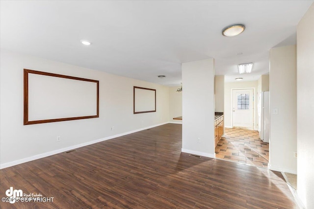
[[[269,92],[261,92],[258,101],[259,132],[263,142],[269,143]]]

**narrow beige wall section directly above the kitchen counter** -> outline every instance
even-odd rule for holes
[[[215,75],[215,112],[224,112],[225,76]]]

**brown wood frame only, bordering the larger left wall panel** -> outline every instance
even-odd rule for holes
[[[94,116],[77,116],[77,117],[64,117],[64,118],[29,121],[28,120],[28,105],[29,105],[28,104],[28,102],[29,102],[28,101],[28,99],[29,99],[28,98],[28,73],[96,83],[97,84],[97,87],[96,87],[97,88],[97,95],[96,95],[97,114]],[[49,123],[49,122],[59,122],[59,121],[66,121],[66,120],[78,120],[78,119],[95,118],[95,117],[99,117],[99,81],[98,80],[92,80],[92,79],[79,78],[79,77],[73,77],[73,76],[68,76],[68,75],[55,74],[55,73],[50,73],[50,72],[42,72],[42,71],[24,69],[24,125],[38,124],[38,123]]]

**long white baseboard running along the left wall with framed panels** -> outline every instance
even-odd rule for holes
[[[0,169],[6,168],[6,167],[11,167],[11,166],[14,166],[14,165],[17,165],[17,164],[21,164],[21,163],[26,163],[26,162],[29,162],[29,161],[34,161],[34,160],[37,160],[37,159],[40,159],[40,158],[45,158],[45,157],[52,156],[52,155],[55,155],[55,154],[58,154],[58,153],[61,153],[61,152],[66,152],[66,151],[69,151],[69,150],[72,150],[72,149],[77,149],[79,147],[83,147],[83,146],[87,146],[87,145],[90,145],[90,144],[98,143],[98,142],[105,141],[105,140],[108,140],[108,139],[114,139],[114,138],[117,138],[117,137],[122,137],[122,136],[125,136],[125,135],[128,135],[128,134],[132,134],[132,133],[135,133],[135,132],[143,131],[143,130],[146,130],[146,129],[149,129],[149,128],[154,128],[154,127],[157,127],[157,126],[160,126],[160,125],[164,125],[164,124],[167,124],[167,123],[168,122],[159,123],[157,125],[152,125],[152,126],[148,126],[148,127],[145,127],[145,128],[140,128],[140,129],[137,129],[137,130],[125,132],[125,133],[122,133],[122,134],[117,134],[117,135],[105,137],[105,138],[102,138],[102,139],[96,139],[96,140],[93,140],[93,141],[88,141],[88,142],[85,142],[85,143],[76,144],[76,145],[73,145],[73,146],[65,147],[65,148],[58,149],[58,150],[53,150],[53,151],[42,153],[42,154],[39,154],[39,155],[34,155],[34,156],[31,156],[31,157],[23,158],[23,159],[20,159],[20,160],[9,162],[9,163],[2,163],[2,164],[0,164]]]

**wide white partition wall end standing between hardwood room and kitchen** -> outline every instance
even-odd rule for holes
[[[183,63],[182,82],[182,151],[214,157],[214,60]]]

